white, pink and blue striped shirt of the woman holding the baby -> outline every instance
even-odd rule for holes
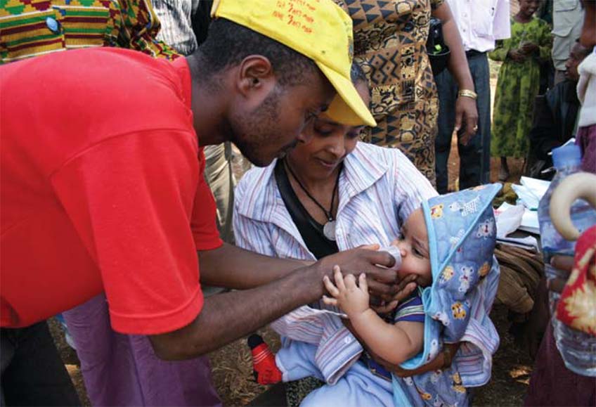
[[[273,162],[268,167],[250,170],[235,190],[236,244],[268,256],[315,260],[281,198],[273,174],[275,165]],[[429,181],[399,150],[358,143],[344,160],[339,176],[336,217],[339,250],[373,243],[389,245],[399,236],[403,221],[420,207],[420,202],[434,195],[436,191]],[[316,344],[317,366],[331,385],[362,352],[361,344],[334,312],[301,306],[271,325],[280,335]],[[487,333],[492,332],[486,332],[483,323],[470,323],[466,333],[473,341],[475,338],[484,340]],[[490,359],[498,341],[481,346],[462,346],[458,353],[466,358],[467,366],[473,366],[460,372],[462,380],[468,379],[467,373],[472,374],[469,382],[476,385],[484,380],[478,377],[478,370],[488,367],[490,377],[491,360],[486,358]],[[488,351],[482,351],[486,348]]]

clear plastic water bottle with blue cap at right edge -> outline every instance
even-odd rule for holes
[[[567,280],[569,273],[555,269],[550,265],[550,259],[555,255],[574,256],[576,243],[565,240],[552,225],[549,214],[550,197],[553,190],[567,176],[581,172],[581,152],[578,146],[564,146],[552,150],[552,161],[557,174],[538,205],[538,222],[540,224],[540,240],[545,261],[546,278]],[[582,233],[596,224],[596,210],[584,200],[576,200],[571,205],[571,220],[578,231]],[[570,328],[560,322],[556,316],[559,293],[549,291],[549,305],[552,328],[555,334],[557,348],[569,370],[579,375],[596,376],[596,337]]]

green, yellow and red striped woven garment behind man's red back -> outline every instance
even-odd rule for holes
[[[155,40],[159,30],[149,0],[6,0],[0,3],[0,63],[91,46],[176,58]]]

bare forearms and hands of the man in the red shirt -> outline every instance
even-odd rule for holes
[[[210,253],[211,252],[211,253]],[[330,275],[332,266],[339,264],[346,274],[368,270],[372,278],[382,283],[394,283],[394,271],[375,266],[391,266],[394,258],[387,252],[358,248],[325,257],[311,266],[296,268],[296,261],[273,259],[247,252],[230,245],[201,252],[202,273],[205,283],[226,282],[239,287],[250,287],[285,276],[273,282],[245,291],[228,292],[205,299],[200,314],[189,325],[174,332],[150,337],[155,354],[168,360],[200,356],[237,340],[263,325],[280,318],[298,306],[316,301],[323,296],[323,276]],[[276,266],[285,266],[280,273]],[[209,270],[214,267],[215,271]],[[262,272],[262,273],[261,273]],[[221,273],[224,276],[218,277]],[[255,276],[263,274],[266,278]],[[225,286],[225,285],[224,285]],[[389,290],[389,285],[384,285]]]

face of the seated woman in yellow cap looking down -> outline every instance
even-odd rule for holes
[[[358,82],[356,90],[368,105],[370,103],[368,84]],[[287,160],[295,172],[306,178],[327,179],[332,176],[346,155],[356,148],[362,128],[363,126],[339,124],[322,113],[309,129],[312,132],[311,140],[294,148],[288,154]]]

